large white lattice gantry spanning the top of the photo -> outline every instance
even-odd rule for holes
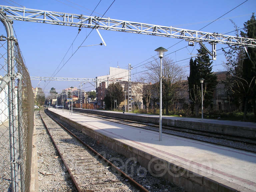
[[[189,45],[193,45],[194,42],[199,42],[200,44],[202,42],[208,42],[212,45],[212,51],[207,51],[212,56],[213,60],[216,60],[217,43],[244,47],[256,47],[256,39],[223,35],[220,33],[209,33],[175,28],[172,26],[152,25],[95,16],[28,9],[25,7],[12,7],[4,5],[0,5],[0,7],[1,11],[6,13],[6,17],[12,20],[179,38],[189,41]]]

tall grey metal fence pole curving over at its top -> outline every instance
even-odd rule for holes
[[[11,81],[8,83],[8,108],[9,108],[9,135],[10,135],[10,163],[11,163],[11,188],[13,192],[19,191],[18,186],[18,153],[17,153],[17,127],[15,110],[15,79],[14,79],[14,36],[12,23],[0,11],[0,20],[7,33],[7,66]]]

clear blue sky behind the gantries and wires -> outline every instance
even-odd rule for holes
[[[113,0],[102,0],[92,15],[100,16],[99,13],[103,14],[112,1]],[[199,30],[244,1],[245,0],[116,0],[105,16],[112,19]],[[98,2],[99,0],[0,0],[1,5],[15,5],[17,7],[20,7],[21,5],[31,9],[83,15],[90,15]],[[230,13],[223,16],[220,20],[215,21],[201,31],[218,33],[233,31],[234,27],[229,19],[232,19],[238,27],[242,28],[243,23],[250,19],[252,12],[256,12],[256,1],[248,0],[243,5],[237,7]],[[14,21],[13,27],[30,76],[51,76],[78,33],[78,28],[76,27],[25,21]],[[73,52],[82,43],[90,31],[91,29],[89,28],[83,28],[81,30],[73,44]],[[139,63],[154,56],[156,54],[154,51],[156,48],[160,46],[168,48],[180,41],[180,39],[174,38],[113,32],[107,30],[100,30],[100,33],[107,44],[106,47],[81,47],[55,76],[95,78],[96,76],[106,75],[109,73],[109,67],[117,67],[117,64],[119,64],[120,68],[127,69],[129,63],[131,63],[132,66],[138,65]],[[1,34],[5,34],[3,27],[1,28]],[[229,35],[235,34],[230,33]],[[94,30],[83,45],[98,44],[100,42],[101,39]],[[182,41],[181,43],[171,47],[168,52],[174,52],[186,45],[188,45],[188,42]],[[221,47],[226,47],[226,45],[217,44],[217,49],[220,49]],[[196,49],[199,47],[197,45],[195,48],[187,48],[176,51],[168,56],[174,61],[180,61],[190,58],[190,53],[196,54]],[[71,54],[72,49],[67,54],[67,57],[64,58],[64,62]],[[226,62],[222,51],[218,51],[217,54],[220,55],[217,55],[217,60],[213,61],[213,71],[225,70],[221,65],[221,63]],[[149,59],[148,61],[151,60],[152,59]],[[177,63],[184,68],[185,66],[189,66],[189,59]],[[61,65],[62,64],[63,62]],[[185,67],[184,69],[189,72],[189,67]],[[136,77],[138,77],[139,75],[143,75],[142,73],[138,73],[143,70],[145,70],[145,68],[141,66],[140,68],[132,70],[132,74],[137,73]],[[132,80],[135,80],[136,77],[132,76]],[[32,86],[36,87],[38,83],[38,81],[32,81]],[[77,87],[78,85],[79,82],[51,81],[47,86],[45,82],[40,82],[39,87],[45,88],[45,90],[55,87],[57,90],[60,90],[70,86]],[[92,90],[94,87],[90,86],[90,84],[85,84],[84,89]]]

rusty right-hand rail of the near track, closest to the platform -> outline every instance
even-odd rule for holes
[[[45,112],[46,113],[46,112]],[[61,127],[63,127],[68,133],[70,133],[72,136],[74,136],[81,144],[83,144],[84,146],[86,146],[87,148],[89,148],[94,154],[96,154],[98,157],[100,157],[101,159],[103,159],[107,165],[111,165],[111,168],[114,169],[116,172],[118,172],[119,174],[121,174],[124,178],[128,179],[131,184],[133,184],[135,187],[137,187],[140,191],[143,192],[149,192],[147,189],[145,189],[142,185],[140,185],[139,183],[137,183],[134,179],[132,179],[129,175],[127,175],[125,172],[123,172],[122,170],[120,170],[119,168],[117,168],[113,163],[111,163],[109,160],[107,160],[105,157],[103,157],[101,154],[99,154],[97,151],[95,151],[93,148],[91,148],[89,145],[87,145],[86,143],[84,143],[81,139],[79,139],[74,133],[72,133],[71,131],[69,131],[64,125],[62,125],[60,122],[58,122],[57,120],[55,120],[51,115],[49,115],[49,113],[46,113],[52,120],[54,120],[56,123],[58,123]]]

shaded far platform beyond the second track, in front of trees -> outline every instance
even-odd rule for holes
[[[79,108],[75,108],[75,110],[159,124],[158,115],[147,115],[138,113],[123,114],[113,111]],[[256,139],[256,123],[252,122],[162,116],[162,124]]]

